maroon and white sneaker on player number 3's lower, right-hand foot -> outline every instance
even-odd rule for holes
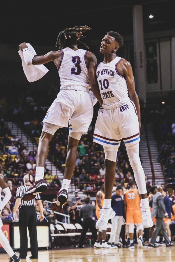
[[[64,204],[66,203],[68,199],[68,191],[66,189],[61,190],[58,192],[56,201],[54,201],[51,205],[50,208],[53,211],[61,211],[63,209]]]

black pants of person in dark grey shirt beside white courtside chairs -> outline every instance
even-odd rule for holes
[[[87,233],[88,229],[90,229],[90,231],[92,233],[92,238],[95,242],[96,239],[97,239],[97,229],[96,229],[94,220],[92,218],[84,219],[82,228],[83,228],[82,233],[81,233],[80,238],[79,238],[79,246],[82,246],[84,244],[84,239],[86,237],[86,233]]]

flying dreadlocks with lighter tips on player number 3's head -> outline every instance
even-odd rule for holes
[[[64,29],[64,31],[61,31],[58,35],[56,47],[59,47],[59,50],[61,50],[65,47],[77,45],[79,48],[89,49],[89,47],[80,40],[86,37],[83,33],[87,30],[91,30],[91,28],[89,26],[75,26]]]

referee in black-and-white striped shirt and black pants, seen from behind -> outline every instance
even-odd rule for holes
[[[27,256],[27,226],[29,229],[29,236],[30,236],[30,246],[31,246],[31,259],[38,258],[38,242],[37,242],[37,233],[36,233],[36,201],[40,209],[40,221],[44,219],[43,216],[43,204],[40,199],[40,195],[37,194],[35,199],[30,201],[23,201],[21,200],[22,195],[31,187],[29,183],[29,176],[25,175],[24,178],[24,185],[19,186],[16,192],[16,201],[13,210],[13,218],[17,221],[17,214],[16,211],[20,208],[20,216],[19,216],[19,228],[20,228],[20,257],[25,259]],[[30,180],[32,181],[33,178],[30,175]]]

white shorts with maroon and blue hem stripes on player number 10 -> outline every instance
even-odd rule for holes
[[[121,139],[125,146],[140,141],[137,111],[131,100],[114,109],[101,107],[98,111],[93,142],[110,148],[118,148]]]

